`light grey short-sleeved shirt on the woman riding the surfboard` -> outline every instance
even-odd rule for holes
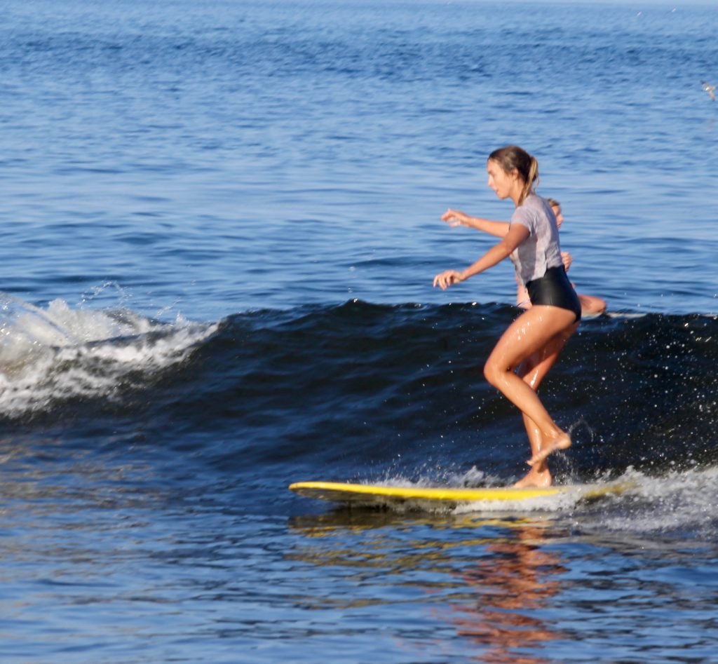
[[[521,224],[528,228],[528,238],[511,252],[511,261],[521,283],[540,279],[546,270],[563,265],[559,228],[549,202],[529,194],[522,205],[511,215],[512,224]]]

